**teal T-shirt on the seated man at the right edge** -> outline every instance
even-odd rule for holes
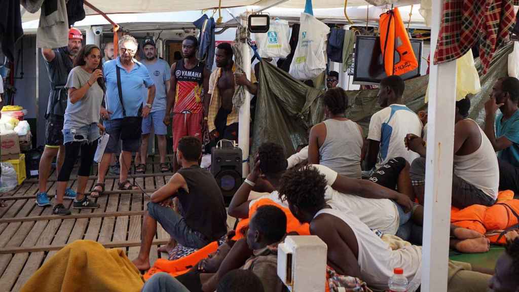
[[[504,136],[513,144],[499,151],[498,157],[507,161],[515,167],[519,167],[519,110],[507,120],[502,122],[503,114],[499,114],[496,118],[496,138]]]

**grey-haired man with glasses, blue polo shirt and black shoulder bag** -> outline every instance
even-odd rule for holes
[[[104,191],[104,178],[108,166],[112,161],[112,155],[122,151],[119,156],[121,171],[119,174],[119,190],[135,190],[138,186],[128,180],[128,169],[131,164],[132,152],[139,151],[141,138],[124,139],[120,142],[122,132],[122,105],[126,116],[138,116],[142,109],[143,118],[149,115],[152,109],[153,99],[155,98],[155,84],[149,76],[146,66],[134,59],[138,43],[131,35],[124,35],[118,43],[119,57],[115,60],[107,61],[103,64],[103,72],[106,82],[106,109],[104,114],[104,126],[110,135],[106,145],[103,158],[99,164],[98,181],[91,192],[91,196],[97,197]],[[122,91],[122,105],[119,98],[117,85],[117,69],[120,71],[120,87]],[[147,88],[147,99],[142,95],[143,87]],[[122,145],[121,145],[122,144]]]

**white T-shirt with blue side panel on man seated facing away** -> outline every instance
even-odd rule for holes
[[[420,155],[405,148],[407,134],[421,137],[422,124],[418,115],[402,104],[391,104],[376,112],[370,121],[367,139],[380,142],[376,168],[391,158],[404,157],[409,164]]]

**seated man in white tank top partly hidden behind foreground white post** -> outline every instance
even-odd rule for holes
[[[454,127],[454,174],[452,205],[465,208],[471,205],[492,206],[496,202],[499,167],[496,153],[485,132],[470,118],[470,99],[456,102]],[[408,150],[418,153],[409,170],[420,204],[424,203],[426,147],[422,138],[408,134]]]

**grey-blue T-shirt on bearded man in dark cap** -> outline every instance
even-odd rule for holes
[[[149,72],[149,76],[152,77],[155,83],[155,99],[153,100],[152,112],[166,110],[166,84],[165,82],[171,79],[171,72],[169,70],[168,62],[157,59],[156,62],[148,62],[142,60],[142,63],[146,66]],[[145,98],[147,99],[147,90],[145,92]]]

